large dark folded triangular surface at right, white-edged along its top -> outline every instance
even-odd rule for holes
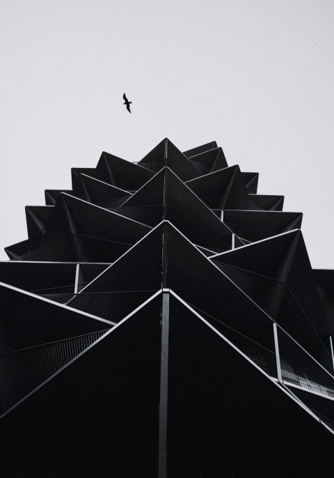
[[[211,259],[321,364],[333,368],[326,320],[301,231],[253,242]]]

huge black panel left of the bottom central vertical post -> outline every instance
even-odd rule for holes
[[[3,415],[4,476],[154,476],[160,307],[158,296]]]

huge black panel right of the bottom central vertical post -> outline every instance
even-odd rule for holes
[[[303,403],[174,298],[169,330],[171,476],[330,476],[331,432]]]

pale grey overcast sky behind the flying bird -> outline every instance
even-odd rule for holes
[[[0,259],[71,167],[168,137],[259,172],[334,268],[333,0],[2,0],[0,37]]]

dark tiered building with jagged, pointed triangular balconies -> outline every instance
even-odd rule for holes
[[[216,142],[102,153],[0,263],[0,475],[331,477],[334,272]]]

